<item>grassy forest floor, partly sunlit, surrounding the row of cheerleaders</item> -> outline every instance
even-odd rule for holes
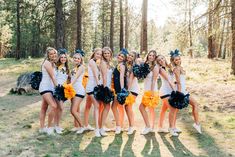
[[[141,96],[134,105],[137,129],[134,135],[110,132],[107,137],[95,138],[93,132],[83,135],[70,132],[73,119],[69,114],[69,102],[65,103],[61,123],[66,129],[64,134],[40,135],[40,95],[19,96],[8,92],[15,86],[19,74],[40,70],[41,61],[0,59],[0,156],[235,156],[235,77],[229,75],[229,61],[183,58],[188,90],[200,103],[203,134],[193,129],[191,108],[188,107],[178,115],[177,125],[183,132],[177,138],[158,133],[140,135],[144,127],[138,111]],[[82,112],[84,105],[85,101]],[[156,108],[157,120],[160,107],[159,104]],[[93,125],[92,112],[90,117]],[[111,112],[107,127],[114,127]],[[127,120],[125,127],[128,127]]]

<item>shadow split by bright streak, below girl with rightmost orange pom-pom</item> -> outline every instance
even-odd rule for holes
[[[146,143],[144,145],[144,149],[141,151],[141,154],[143,156],[160,157],[159,143],[157,142],[155,133],[144,135],[144,137],[146,138]]]

